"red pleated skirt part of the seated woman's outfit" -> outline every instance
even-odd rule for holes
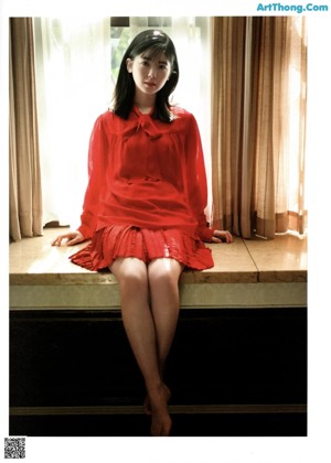
[[[177,228],[147,229],[114,225],[97,230],[92,241],[70,257],[88,270],[105,270],[121,257],[136,257],[147,265],[158,258],[175,259],[191,270],[214,266],[212,252],[199,238]]]

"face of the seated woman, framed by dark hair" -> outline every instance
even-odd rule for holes
[[[127,69],[132,73],[136,90],[156,95],[169,79],[171,65],[164,53],[151,57],[147,50],[134,60],[128,58]]]

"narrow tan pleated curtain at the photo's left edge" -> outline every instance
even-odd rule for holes
[[[31,18],[10,19],[10,238],[42,235],[42,192]]]

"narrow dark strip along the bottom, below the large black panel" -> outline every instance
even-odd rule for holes
[[[175,414],[172,437],[305,437],[307,417],[289,414]],[[28,432],[26,432],[28,431]],[[45,416],[13,417],[11,435],[149,437],[150,417]]]

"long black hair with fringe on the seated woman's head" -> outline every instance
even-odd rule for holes
[[[147,30],[140,32],[128,46],[119,67],[118,78],[114,93],[114,112],[122,119],[128,119],[134,106],[135,80],[132,74],[127,71],[127,60],[134,60],[149,50],[151,57],[164,53],[170,62],[171,73],[169,80],[157,93],[156,107],[152,117],[162,122],[171,122],[169,97],[174,90],[179,79],[179,66],[177,53],[171,39],[162,31]]]

